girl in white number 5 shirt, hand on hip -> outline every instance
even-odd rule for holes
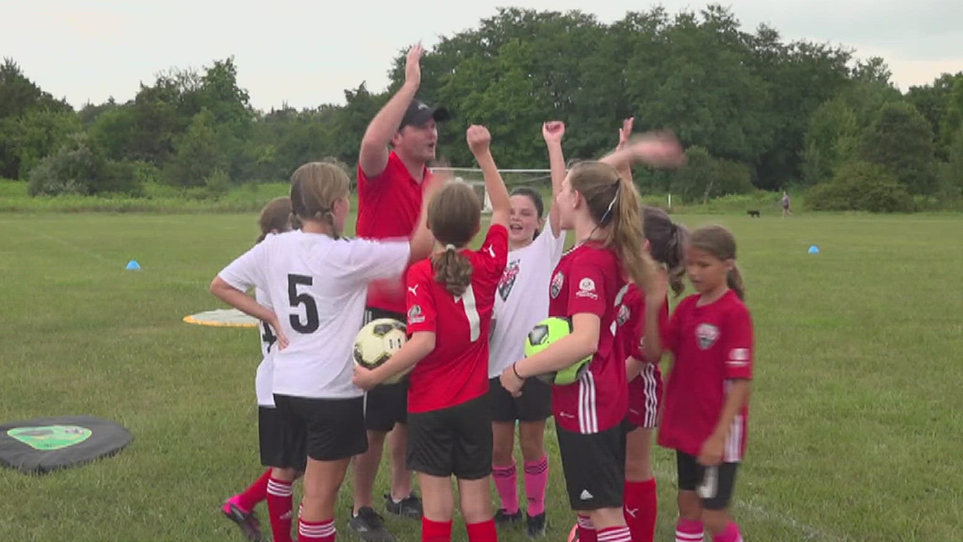
[[[338,489],[351,457],[368,446],[364,394],[351,384],[368,283],[401,277],[433,243],[424,206],[409,241],[341,238],[349,186],[333,164],[301,166],[291,183],[301,229],[258,243],[211,285],[224,302],[267,322],[276,337],[274,403],[296,452],[307,457],[299,542],[334,541]],[[434,188],[426,190],[427,205]],[[267,292],[273,311],[244,293],[250,286]]]

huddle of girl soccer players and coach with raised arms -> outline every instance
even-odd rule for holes
[[[677,457],[676,541],[702,541],[706,531],[716,542],[741,541],[728,508],[745,449],[753,332],[735,239],[721,227],[674,224],[639,203],[632,180],[633,164],[681,166],[678,142],[632,137],[629,120],[611,154],[566,169],[565,126],[545,122],[553,194],[545,217],[538,191],[508,193],[491,135],[472,125],[466,140],[491,204],[482,232],[473,187],[427,167],[449,114],[415,97],[421,55],[420,45],[409,51],[403,87],[361,142],[357,237],[343,236],[349,175],[308,163],[292,176],[290,197],[262,211],[257,243],[211,285],[262,322],[255,390],[268,471],[226,501],[224,514],[260,540],[253,509],[267,501],[275,542],[291,541],[296,521],[300,542],[333,542],[351,465],[349,527],[362,540],[396,540],[372,495],[387,442],[384,508],[420,519],[424,542],[452,539],[452,476],[470,542],[494,542],[499,528],[522,523],[537,538],[546,529],[552,417],[577,513],[570,539],[653,540],[658,430],[658,444]],[[574,246],[564,252],[569,234]],[[670,314],[668,289],[681,295],[687,275],[696,293]],[[526,352],[547,319],[563,333]],[[382,320],[404,325],[403,345],[374,368],[355,364],[358,331]],[[665,378],[664,353],[672,354]]]

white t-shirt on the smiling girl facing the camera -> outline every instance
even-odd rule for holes
[[[564,248],[565,231],[556,237],[546,226],[531,245],[508,252],[508,265],[495,295],[488,342],[489,378],[525,357],[525,337],[548,317],[549,283]]]

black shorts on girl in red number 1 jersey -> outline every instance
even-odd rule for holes
[[[487,395],[408,417],[407,466],[416,473],[478,480],[491,474]]]

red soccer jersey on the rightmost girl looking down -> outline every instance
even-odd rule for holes
[[[675,361],[666,385],[659,444],[698,455],[716,430],[729,381],[752,379],[752,318],[735,291],[698,306],[699,295],[679,304],[665,330],[664,348]],[[742,460],[748,408],[733,420],[722,460]]]

